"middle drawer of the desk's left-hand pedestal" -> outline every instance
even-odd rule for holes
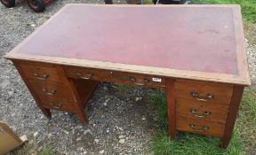
[[[52,82],[29,81],[38,96],[47,98],[67,98],[74,101],[75,97],[68,86]]]

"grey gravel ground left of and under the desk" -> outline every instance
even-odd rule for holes
[[[103,4],[103,1],[58,0],[43,13],[32,12],[24,3],[17,2],[12,9],[0,4],[0,120],[8,122],[18,135],[27,135],[29,144],[42,148],[50,143],[59,154],[149,154],[148,146],[157,123],[146,98],[154,89],[134,87],[124,97],[118,97],[113,83],[100,83],[86,110],[87,126],[68,112],[52,111],[52,120],[47,120],[12,63],[3,58],[36,27],[70,3]],[[247,43],[254,85],[255,49]]]

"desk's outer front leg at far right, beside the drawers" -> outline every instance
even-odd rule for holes
[[[230,141],[235,122],[236,122],[236,114],[239,109],[239,105],[243,96],[244,87],[234,86],[233,94],[231,98],[231,103],[229,105],[228,109],[228,118],[227,123],[224,130],[224,136],[221,139],[221,145],[222,148],[227,148],[228,143]]]

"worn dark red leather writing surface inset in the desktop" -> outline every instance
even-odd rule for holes
[[[237,73],[234,21],[228,7],[71,5],[19,52]]]

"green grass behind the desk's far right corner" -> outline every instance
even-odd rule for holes
[[[240,4],[243,18],[256,23],[255,0],[192,0],[193,4]]]

